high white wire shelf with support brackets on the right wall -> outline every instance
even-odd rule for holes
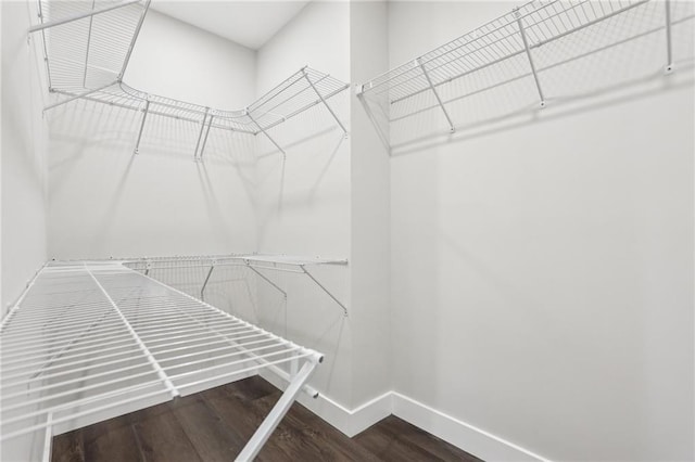
[[[363,84],[357,95],[390,150],[389,124],[437,111],[454,133],[453,103],[519,81],[533,88],[535,110],[545,107],[563,86],[546,75],[631,40],[662,41],[656,64],[669,74],[677,59],[692,61],[694,18],[691,1],[533,0]],[[675,34],[688,49],[678,56]]]

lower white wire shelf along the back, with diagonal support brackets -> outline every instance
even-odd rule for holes
[[[261,280],[269,284],[274,290],[282,295],[287,299],[287,292],[275,282],[267,272],[289,272],[305,275],[308,278],[321,292],[330,297],[343,312],[343,316],[348,317],[348,307],[340,298],[331,291],[325,283],[319,281],[312,267],[318,266],[346,266],[346,259],[336,258],[319,258],[319,257],[306,257],[306,256],[293,256],[293,255],[258,255],[258,254],[238,254],[238,255],[199,255],[199,256],[181,256],[174,258],[154,257],[154,258],[138,258],[126,259],[124,265],[136,271],[140,271],[146,275],[151,275],[154,271],[166,270],[180,270],[186,268],[202,268],[205,275],[203,283],[200,287],[200,292],[195,296],[200,299],[205,299],[205,288],[208,282],[213,278],[215,269],[222,269],[225,267],[243,267],[255,273]]]

